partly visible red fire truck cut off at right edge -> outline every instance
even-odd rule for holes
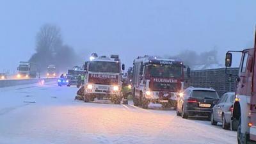
[[[242,52],[237,77],[236,100],[232,111],[232,129],[237,129],[239,144],[256,143],[256,33],[253,49],[228,51],[226,67],[231,67],[232,53]]]

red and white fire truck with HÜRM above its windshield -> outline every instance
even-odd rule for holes
[[[134,106],[147,109],[152,102],[171,107],[184,86],[184,65],[182,61],[139,56],[133,62],[132,79]]]

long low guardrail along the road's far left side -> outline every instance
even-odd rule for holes
[[[40,83],[40,81],[44,80],[45,83],[57,81],[57,78],[42,78],[42,79],[3,79],[0,80],[0,88],[8,87],[8,86],[17,86],[22,84],[35,84]]]

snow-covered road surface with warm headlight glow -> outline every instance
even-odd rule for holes
[[[207,121],[185,120],[175,111],[74,101],[76,91],[56,84],[0,88],[0,143],[236,143],[236,132]]]

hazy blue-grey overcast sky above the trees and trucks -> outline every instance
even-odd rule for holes
[[[120,54],[131,66],[145,54],[216,47],[223,63],[227,50],[253,46],[256,1],[0,0],[0,71],[28,61],[43,24],[60,26],[84,60],[92,52]]]

